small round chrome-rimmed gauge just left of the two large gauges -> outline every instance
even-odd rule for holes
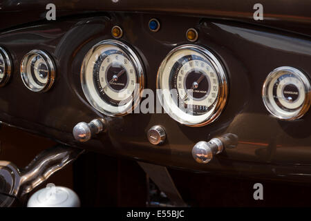
[[[46,92],[55,80],[53,59],[42,50],[32,50],[21,61],[23,84],[34,92]]]

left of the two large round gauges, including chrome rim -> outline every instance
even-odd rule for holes
[[[138,56],[120,41],[105,40],[88,51],[81,70],[88,102],[105,115],[131,113],[140,102],[144,73]]]

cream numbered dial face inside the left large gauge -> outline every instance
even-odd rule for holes
[[[104,50],[95,61],[93,81],[100,97],[113,106],[133,99],[136,74],[131,61],[120,50]]]

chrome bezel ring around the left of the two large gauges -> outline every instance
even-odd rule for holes
[[[132,102],[131,104],[130,102],[129,104],[126,103],[127,107],[125,107],[123,111],[119,111],[119,112],[107,111],[105,106],[109,104],[106,104],[105,106],[101,106],[100,104],[98,104],[98,102],[96,102],[95,99],[91,96],[90,89],[88,88],[86,84],[87,83],[86,75],[93,75],[93,73],[86,73],[88,61],[91,59],[95,50],[97,50],[97,48],[100,48],[101,46],[104,46],[104,45],[111,45],[111,46],[120,48],[120,50],[122,50],[127,55],[127,57],[129,57],[129,60],[131,61],[135,69],[135,73],[136,73],[135,84],[138,84],[139,88],[133,91]],[[134,50],[132,50],[129,46],[122,43],[121,41],[117,41],[113,39],[100,41],[99,43],[95,44],[95,46],[93,46],[90,50],[88,50],[86,56],[84,57],[84,60],[82,61],[80,79],[81,79],[82,90],[84,92],[86,99],[88,100],[88,103],[91,104],[91,106],[93,106],[93,108],[95,108],[100,113],[103,113],[104,115],[108,115],[108,116],[123,116],[123,115],[127,115],[131,113],[134,110],[134,108],[140,103],[142,91],[144,90],[144,68],[142,66],[142,61],[140,57],[138,57],[137,53],[134,52]],[[102,100],[102,102],[104,102],[104,100]]]

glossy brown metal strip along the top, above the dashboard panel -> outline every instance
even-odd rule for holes
[[[45,19],[46,5],[54,3],[57,16],[87,14],[89,12],[160,12],[162,14],[190,15],[216,19],[243,21],[263,26],[271,26],[311,35],[310,23],[311,2],[308,0],[173,0],[173,1],[141,1],[141,0],[75,0],[75,1],[13,1],[0,3],[0,13],[10,19],[1,20],[1,28],[8,28],[27,22]],[[254,4],[263,5],[264,20],[254,21]],[[1,22],[0,21],[0,22]],[[5,21],[5,22],[4,22]]]

